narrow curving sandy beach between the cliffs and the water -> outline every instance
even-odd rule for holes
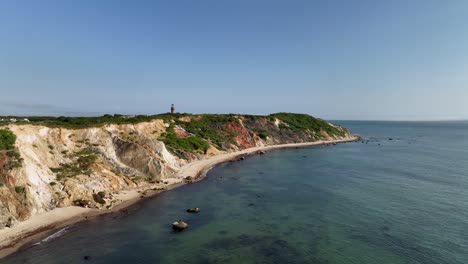
[[[187,182],[185,182],[183,179],[187,176],[191,176],[193,178],[193,182],[200,181],[206,176],[206,173],[211,168],[224,162],[237,160],[248,155],[262,154],[261,152],[275,149],[301,148],[316,145],[354,142],[358,140],[358,136],[353,136],[341,140],[320,140],[306,143],[289,143],[253,147],[240,151],[216,155],[203,160],[193,161],[183,166],[177,173],[177,177],[181,179],[182,182],[170,184],[164,190],[146,190],[143,194],[141,191],[144,188],[135,188],[132,190],[121,191],[118,194],[118,200],[121,202],[113,206],[111,209],[91,209],[78,206],[55,208],[48,212],[33,215],[29,219],[23,222],[19,222],[12,228],[4,228],[0,230],[0,259],[17,252],[23,247],[30,245],[32,242],[53,234],[59,229],[86,221],[99,215],[125,211],[126,208],[135,205],[139,201],[185,185]]]

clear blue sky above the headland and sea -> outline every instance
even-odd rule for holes
[[[468,119],[465,0],[0,0],[0,115]]]

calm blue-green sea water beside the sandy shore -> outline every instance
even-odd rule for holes
[[[225,163],[0,263],[468,263],[468,122],[337,123],[370,141]]]

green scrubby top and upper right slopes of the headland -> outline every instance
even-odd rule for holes
[[[28,124],[68,129],[109,124],[137,124],[162,119],[168,124],[160,136],[171,152],[205,153],[210,146],[228,149],[254,146],[250,137],[274,143],[316,141],[344,137],[345,130],[306,114],[276,113],[267,116],[240,114],[104,115],[100,117],[28,117]],[[19,119],[22,120],[22,119]],[[20,121],[19,123],[25,123]],[[1,142],[0,142],[1,144]]]

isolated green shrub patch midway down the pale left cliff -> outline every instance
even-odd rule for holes
[[[76,155],[78,158],[75,162],[60,164],[60,167],[50,169],[53,173],[56,174],[58,181],[80,174],[91,174],[90,167],[96,162],[98,158],[97,152],[93,149],[87,148],[77,152]]]

